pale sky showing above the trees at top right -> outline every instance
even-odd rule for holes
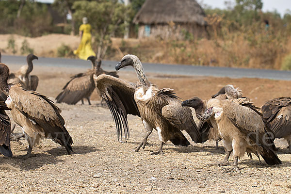
[[[235,2],[235,0],[228,0]],[[212,8],[226,8],[224,2],[225,0],[198,0],[198,2],[203,2],[204,4],[210,5]],[[284,16],[286,10],[291,10],[291,0],[262,0],[263,2],[263,12],[275,11],[277,10],[281,16]]]

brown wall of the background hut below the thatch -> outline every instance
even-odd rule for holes
[[[138,29],[138,38],[162,38],[162,39],[178,39],[186,38],[187,33],[193,34],[194,38],[206,37],[207,32],[205,26],[197,24],[140,24]]]

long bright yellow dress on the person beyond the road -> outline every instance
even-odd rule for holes
[[[79,31],[82,31],[81,43],[77,50],[74,50],[74,54],[78,55],[80,59],[87,60],[91,55],[96,56],[95,52],[92,50],[91,45],[91,25],[82,24],[79,28]]]

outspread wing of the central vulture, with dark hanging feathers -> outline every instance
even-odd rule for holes
[[[94,79],[96,87],[111,111],[116,125],[117,139],[122,140],[122,128],[127,139],[129,136],[127,115],[140,116],[134,101],[136,84],[105,74],[99,75],[97,78],[94,77]]]

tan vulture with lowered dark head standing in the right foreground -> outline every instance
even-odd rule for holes
[[[229,165],[228,158],[233,151],[235,160],[232,167],[225,172],[238,171],[238,160],[247,152],[262,156],[267,164],[281,164],[275,153],[275,145],[272,139],[272,131],[264,124],[259,108],[253,105],[249,99],[225,99],[212,98],[207,106],[198,97],[185,100],[182,106],[190,106],[195,109],[199,120],[210,120],[212,126],[216,125],[223,139],[226,157],[219,165]]]

